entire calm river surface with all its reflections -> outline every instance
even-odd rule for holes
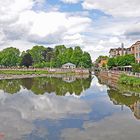
[[[139,89],[116,90],[101,81],[1,80],[0,140],[139,140]]]

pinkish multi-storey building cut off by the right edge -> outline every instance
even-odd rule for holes
[[[131,54],[134,54],[136,61],[140,63],[140,41],[137,41],[131,47]]]

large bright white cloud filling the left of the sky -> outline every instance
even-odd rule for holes
[[[34,11],[32,8],[43,0],[6,2],[7,8],[0,11],[0,49],[8,46],[28,49],[29,44],[82,44],[83,39],[77,38],[77,34],[81,36],[85,33],[92,22],[86,15],[69,14],[53,9],[47,12]],[[0,9],[3,7],[5,4],[1,3]]]

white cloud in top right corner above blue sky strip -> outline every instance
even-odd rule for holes
[[[139,0],[84,0],[83,8],[98,9],[115,17],[140,17]]]

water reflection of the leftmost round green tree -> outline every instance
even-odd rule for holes
[[[17,93],[20,85],[20,80],[0,80],[0,89],[7,93]]]

